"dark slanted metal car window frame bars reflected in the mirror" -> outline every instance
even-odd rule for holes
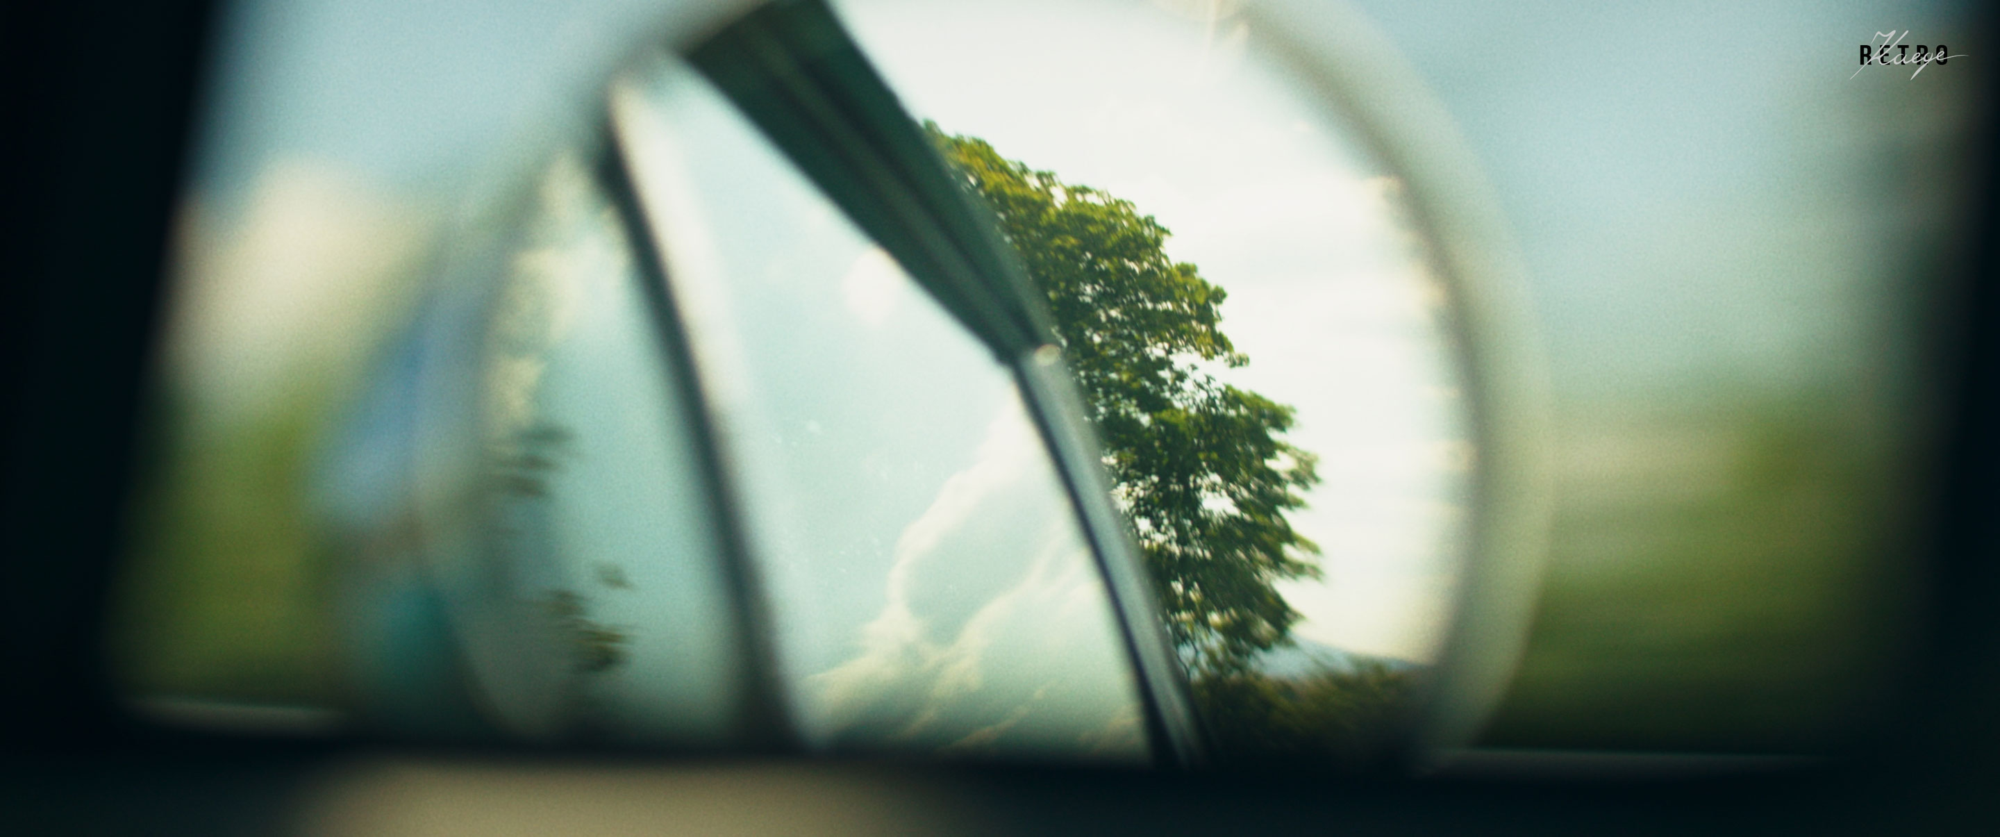
[[[1168,639],[1138,547],[1112,505],[1102,455],[1086,425],[1046,304],[1004,242],[998,222],[950,174],[918,122],[868,64],[834,12],[820,0],[762,4],[692,48],[678,50],[718,92],[798,166],[864,236],[888,250],[944,310],[1008,370],[1036,425],[1076,523],[1090,547],[1126,659],[1138,681],[1154,761],[1190,769],[1206,761],[1186,669]],[[608,104],[608,102],[606,102]],[[692,362],[694,346],[666,276],[664,242],[634,182],[632,138],[606,108],[600,170],[620,222],[642,262],[646,298],[660,338],[682,378],[682,398],[698,412],[696,449],[724,535],[728,577],[752,639],[756,709],[750,717],[784,729],[774,673],[770,603],[744,535],[734,477],[720,451],[712,398]]]

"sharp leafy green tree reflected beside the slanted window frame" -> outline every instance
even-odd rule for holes
[[[1222,334],[1224,290],[1128,200],[928,128],[1048,296],[1176,647],[1198,675],[1244,671],[1298,621],[1276,583],[1320,573],[1286,521],[1318,477],[1282,439],[1290,406],[1208,372],[1248,362]]]

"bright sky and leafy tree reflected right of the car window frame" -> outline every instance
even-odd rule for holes
[[[1048,294],[1218,755],[1380,755],[1474,465],[1398,176],[1234,4],[836,6]]]

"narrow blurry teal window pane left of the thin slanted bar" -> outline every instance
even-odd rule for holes
[[[540,182],[486,334],[492,557],[560,633],[574,721],[716,741],[742,703],[694,435],[620,216],[574,156]]]

